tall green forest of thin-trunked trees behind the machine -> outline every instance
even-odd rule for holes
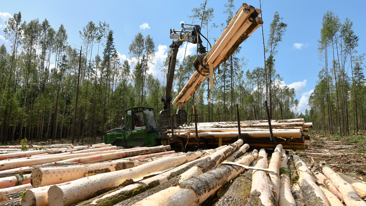
[[[232,0],[223,4],[225,22],[212,22],[214,9],[207,1],[188,16],[201,23],[209,37],[212,27],[225,27],[236,10]],[[246,68],[247,60],[234,53],[216,72],[215,87],[204,81],[184,109],[192,121],[193,107],[199,122],[234,121],[239,105],[240,119],[266,119],[268,100],[272,119],[302,117],[313,121],[316,131],[350,134],[365,129],[365,78],[363,55],[356,55],[358,37],[352,22],[341,24],[327,12],[319,40],[324,69],[309,99],[310,111],[298,114],[295,91],[280,86],[275,70],[277,48],[287,24],[276,12],[264,42],[263,67]],[[334,21],[334,22],[333,22]],[[335,23],[336,22],[336,23]],[[259,29],[258,31],[259,32]],[[124,109],[132,106],[162,109],[166,80],[147,73],[155,52],[153,37],[135,35],[129,46],[130,62],[121,62],[114,33],[107,22],[88,22],[80,30],[81,47],[67,42],[61,24],[54,29],[47,19],[25,21],[21,12],[5,23],[5,38],[11,48],[0,47],[0,140],[2,144],[27,138],[32,141],[68,139],[74,143],[100,141],[104,132],[122,123]],[[240,47],[238,48],[240,49]],[[170,51],[167,52],[170,54]],[[173,98],[194,72],[195,55],[177,63]],[[328,60],[330,60],[328,63]],[[51,65],[55,62],[55,66]],[[349,77],[346,63],[351,63]],[[162,66],[167,72],[168,58]],[[173,107],[173,112],[177,108]]]

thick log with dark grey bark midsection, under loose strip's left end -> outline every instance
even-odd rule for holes
[[[254,156],[246,155],[237,159],[236,163],[250,165]],[[227,184],[234,177],[238,176],[244,168],[233,165],[221,165],[219,168],[194,176],[176,186],[150,195],[137,202],[134,206],[154,205],[198,205],[214,194],[223,185]]]

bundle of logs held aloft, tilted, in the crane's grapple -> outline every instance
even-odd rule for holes
[[[208,76],[210,76],[210,84],[213,87],[213,71],[225,62],[234,53],[235,49],[263,24],[262,19],[258,16],[260,13],[261,10],[258,8],[255,9],[253,6],[243,3],[210,51],[202,58],[202,63],[195,61],[194,65],[197,70],[173,100],[173,104],[181,106],[187,102]]]

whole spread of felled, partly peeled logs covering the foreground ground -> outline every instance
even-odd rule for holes
[[[186,153],[169,146],[2,146],[0,204],[366,205],[361,180],[322,162],[322,173],[314,174],[281,144],[270,161],[264,149],[249,147],[241,139]]]

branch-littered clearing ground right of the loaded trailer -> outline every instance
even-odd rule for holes
[[[319,162],[330,165],[336,172],[359,176],[366,180],[366,136],[324,137],[310,135],[306,150],[289,151],[299,155],[312,168],[320,171]]]

